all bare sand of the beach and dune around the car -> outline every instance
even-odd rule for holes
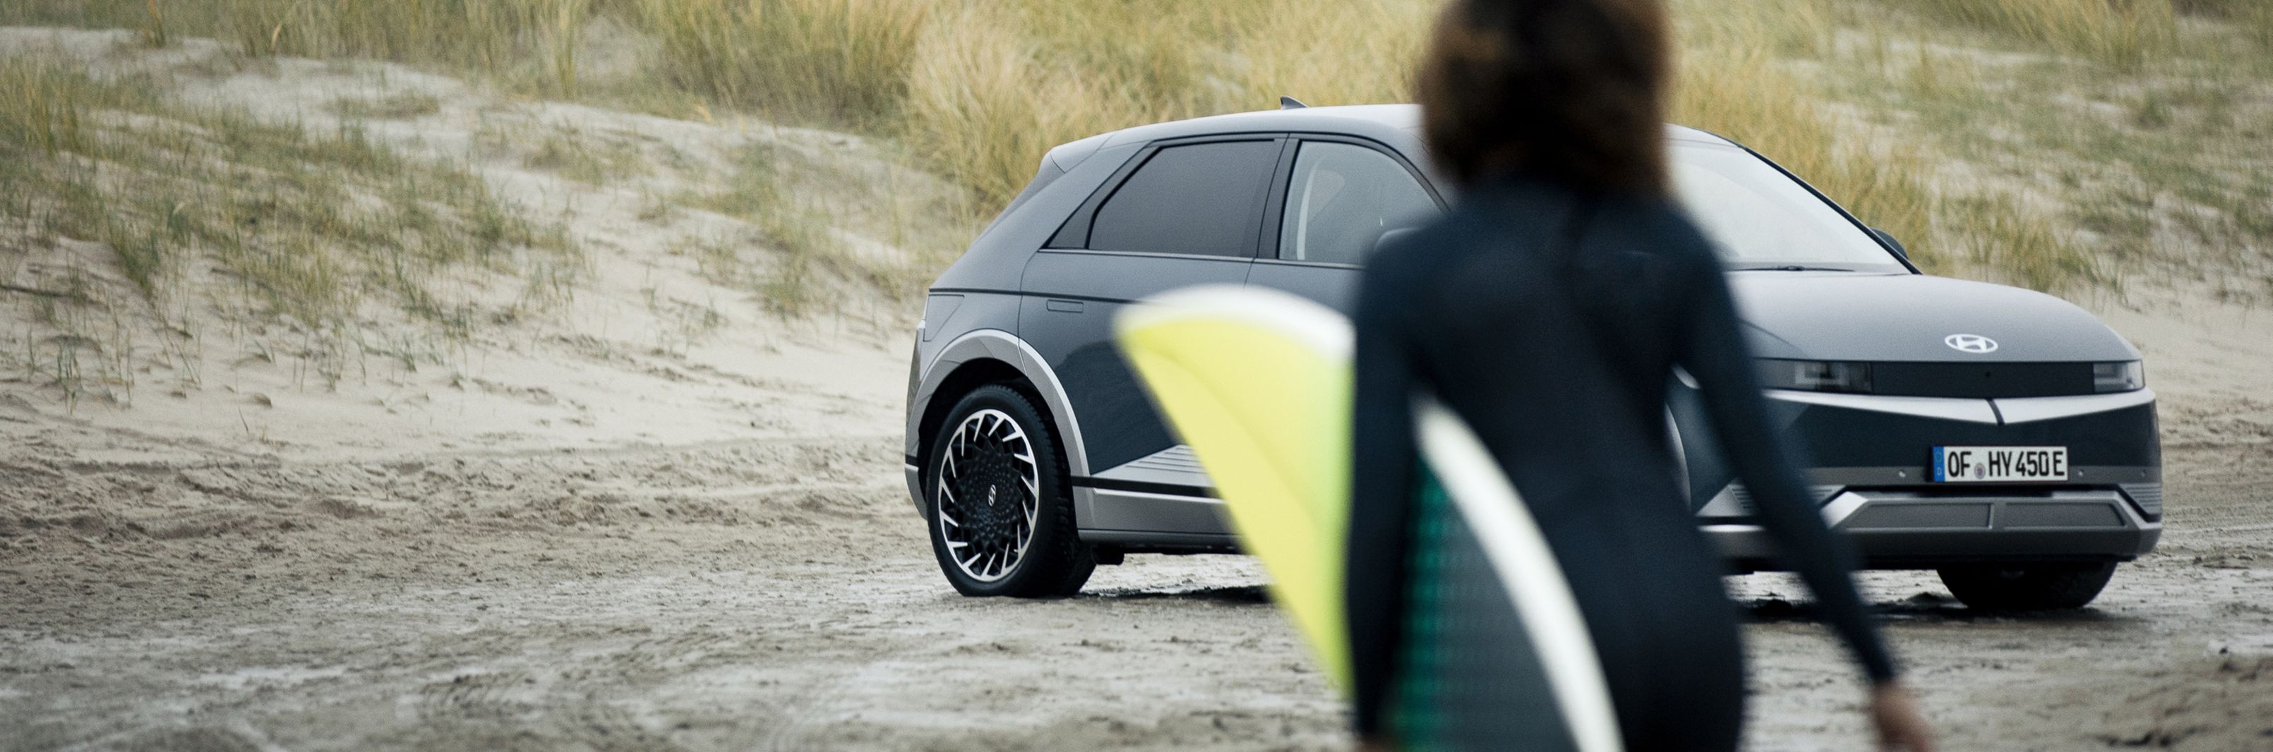
[[[109,55],[0,32],[57,39]],[[666,236],[700,227],[636,218],[634,189],[459,145],[484,118],[689,154],[780,139],[868,159],[861,143],[496,102],[361,64],[280,61],[184,95],[316,120],[377,77],[443,102],[386,139],[573,209],[598,248],[589,291],[484,334],[452,373],[336,393],[225,339],[207,386],[132,409],[0,386],[0,750],[1346,745],[1246,559],[1132,557],[1055,602],[952,595],[898,479],[896,314],[768,318],[671,257]],[[648,289],[716,298],[730,325],[666,345]],[[2273,747],[2273,336],[2205,300],[2091,307],[2164,395],[2162,552],[2073,616],[1978,618],[1905,573],[1871,575],[1873,598],[1953,750]],[[1862,747],[1852,670],[1793,620],[1800,591],[1732,588],[1755,623],[1752,747]]]

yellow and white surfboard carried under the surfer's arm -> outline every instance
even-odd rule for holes
[[[1114,320],[1123,357],[1200,459],[1318,668],[1350,684],[1348,318],[1307,298],[1193,286]],[[1584,618],[1514,484],[1457,413],[1416,395],[1416,507],[1398,741],[1414,750],[1618,750]]]

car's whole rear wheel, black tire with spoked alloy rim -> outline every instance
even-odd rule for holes
[[[948,411],[923,459],[923,502],[932,554],[957,593],[1073,595],[1098,568],[1073,527],[1057,432],[1009,386],[973,388]]]

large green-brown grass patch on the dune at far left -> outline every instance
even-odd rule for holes
[[[461,268],[543,270],[530,275],[541,284],[525,298],[541,304],[559,291],[557,270],[575,266],[577,250],[559,229],[498,202],[466,170],[407,159],[352,125],[259,123],[173,102],[170,89],[150,75],[98,77],[45,57],[0,57],[0,223],[34,239],[109,245],[141,298],[100,286],[48,295],[66,307],[43,316],[59,329],[43,339],[48,348],[123,359],[132,341],[91,334],[89,316],[118,323],[148,311],[161,329],[193,339],[200,316],[186,311],[214,307],[225,320],[309,334],[295,354],[314,377],[336,382],[357,348],[352,329],[368,316],[425,323],[436,336],[427,350],[439,352],[496,314],[461,293]],[[23,354],[32,366],[57,359]],[[89,386],[86,368],[43,373],[66,395]]]

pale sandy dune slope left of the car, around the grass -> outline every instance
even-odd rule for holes
[[[357,339],[446,348],[448,361],[405,368],[384,354],[361,354],[336,384],[311,377],[307,361],[277,354],[293,350],[280,343],[289,339],[286,327],[191,304],[186,327],[200,334],[189,354],[193,366],[159,368],[155,364],[166,357],[155,350],[164,336],[134,339],[130,361],[139,361],[139,375],[132,409],[80,404],[64,420],[230,454],[373,457],[809,434],[836,429],[830,425],[839,420],[886,416],[905,391],[905,343],[896,334],[914,327],[909,304],[823,279],[816,293],[834,298],[823,307],[832,316],[784,320],[748,289],[707,279],[682,250],[689,241],[727,239],[752,245],[741,252],[766,264],[766,248],[748,241],[748,223],[698,209],[641,216],[655,195],[721,179],[752,143],[807,154],[836,170],[925,179],[907,177],[914,173],[882,161],[855,136],[518,102],[389,64],[275,59],[230,68],[214,64],[220,50],[211,41],[191,39],[143,52],[127,39],[125,32],[0,30],[0,52],[77,57],[95,70],[164,70],[184,102],[245,109],[309,132],[334,132],[343,123],[332,111],[341,98],[432,95],[439,102],[434,114],[359,120],[359,127],[409,154],[473,168],[500,198],[534,218],[559,218],[586,250],[589,268],[568,302],[541,316],[482,325],[468,343],[436,341],[400,316],[370,311]],[[652,164],[643,175],[584,184],[530,168],[527,148],[516,145],[561,134]],[[893,252],[868,239],[850,241],[859,250]],[[105,284],[125,286],[100,245],[18,243],[30,248],[30,259],[0,270],[14,273],[18,284],[34,286],[30,279],[75,266]],[[459,284],[466,295],[511,298],[527,279],[468,270]],[[0,327],[0,341],[9,352],[23,352],[20,339],[41,336],[30,323],[36,300],[18,295],[7,302],[9,316],[25,323]],[[116,314],[132,329],[159,327],[136,307],[120,304]],[[18,407],[61,411],[32,379],[5,386]],[[852,432],[893,427],[893,420],[841,425]]]

